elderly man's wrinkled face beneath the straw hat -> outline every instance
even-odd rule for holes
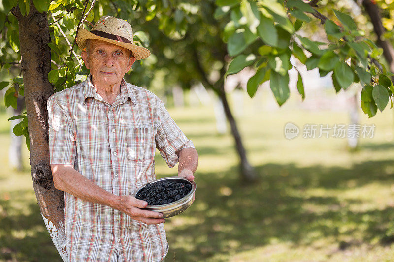
[[[135,62],[135,58],[130,57],[131,51],[124,47],[96,39],[90,39],[87,44],[87,52],[81,56],[98,87],[120,83]]]

